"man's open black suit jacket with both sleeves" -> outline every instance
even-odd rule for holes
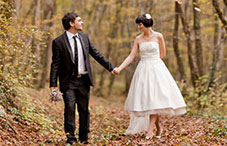
[[[89,75],[89,85],[93,86],[89,54],[110,72],[113,70],[114,66],[93,46],[87,34],[79,32],[78,35],[83,49],[85,68]],[[57,87],[57,79],[59,77],[60,91],[64,92],[68,88],[74,67],[72,49],[66,32],[53,40],[52,53],[50,87]]]

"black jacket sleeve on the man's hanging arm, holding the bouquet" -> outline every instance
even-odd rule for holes
[[[50,70],[50,87],[57,87],[57,79],[59,75],[59,68],[61,64],[61,55],[59,46],[55,40],[52,42],[52,63]]]

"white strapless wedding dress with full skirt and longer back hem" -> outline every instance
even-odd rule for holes
[[[159,44],[139,44],[140,62],[133,75],[125,110],[130,112],[126,134],[147,131],[149,115],[181,115],[186,104],[169,70],[160,58]]]

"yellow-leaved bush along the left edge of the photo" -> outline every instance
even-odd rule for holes
[[[31,120],[38,117],[41,120],[41,115],[31,114],[33,109],[31,105],[27,105],[27,95],[21,87],[31,87],[33,75],[37,72],[38,62],[33,55],[31,43],[35,39],[41,40],[42,33],[32,25],[15,23],[18,22],[16,19],[7,17],[13,10],[7,7],[3,9],[2,5],[0,7],[0,90],[3,91],[1,96],[6,97],[1,102],[3,105],[11,105],[17,98],[23,97],[24,103],[20,103],[23,105],[21,113],[24,118]],[[12,103],[7,103],[7,100]]]

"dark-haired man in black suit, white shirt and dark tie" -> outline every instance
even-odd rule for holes
[[[75,108],[79,112],[79,140],[88,143],[90,113],[89,92],[93,86],[89,54],[108,71],[114,66],[96,50],[87,34],[82,33],[83,21],[74,12],[66,13],[62,18],[65,32],[53,40],[52,64],[50,71],[50,90],[57,90],[59,78],[60,91],[63,93],[64,129],[67,143],[76,142]],[[112,72],[113,73],[113,72]]]

